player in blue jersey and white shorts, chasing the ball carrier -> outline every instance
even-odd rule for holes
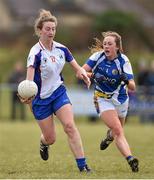
[[[128,111],[127,90],[135,91],[132,67],[123,54],[121,36],[116,32],[102,33],[103,40],[95,39],[94,52],[83,68],[95,84],[94,103],[100,118],[109,128],[100,149],[114,140],[133,172],[138,171],[138,160],[132,156],[124,135],[123,125]]]

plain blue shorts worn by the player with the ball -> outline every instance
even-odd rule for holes
[[[33,104],[32,109],[35,119],[43,120],[55,113],[65,104],[71,104],[66,92],[58,96],[55,100],[51,101],[47,105]]]

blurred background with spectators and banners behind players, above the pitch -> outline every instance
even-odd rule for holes
[[[41,8],[57,17],[55,40],[66,45],[80,65],[91,55],[93,38],[107,30],[121,34],[138,85],[135,94],[129,93],[128,120],[154,123],[153,0],[0,0],[0,121],[32,117],[16,98],[16,88],[25,79],[27,55],[38,40],[33,26]],[[92,89],[77,81],[69,65],[63,76],[75,115],[96,122]]]

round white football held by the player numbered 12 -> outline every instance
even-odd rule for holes
[[[38,92],[38,87],[34,81],[24,80],[18,85],[18,94],[22,98],[30,98],[36,96]]]

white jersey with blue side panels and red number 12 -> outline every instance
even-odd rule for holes
[[[74,58],[70,51],[60,43],[53,42],[52,51],[44,48],[41,42],[35,44],[29,53],[27,67],[35,68],[34,81],[38,86],[38,97],[49,98],[63,84],[61,76],[65,62]]]

